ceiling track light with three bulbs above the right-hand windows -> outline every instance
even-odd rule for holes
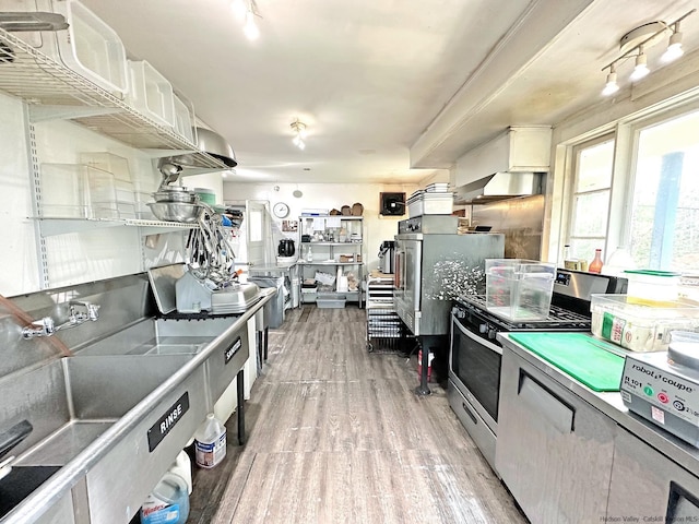
[[[631,82],[638,82],[647,76],[648,73],[650,73],[650,68],[648,67],[648,55],[645,51],[649,47],[657,44],[668,31],[672,32],[672,35],[670,36],[667,50],[662,56],[662,61],[670,62],[679,58],[683,55],[679,23],[696,11],[696,9],[692,9],[670,24],[662,21],[651,22],[636,27],[624,35],[619,41],[621,56],[602,68],[602,71],[609,70],[602,94],[609,96],[619,91],[616,70],[620,63],[630,58],[636,58],[636,66],[629,75],[629,80]]]

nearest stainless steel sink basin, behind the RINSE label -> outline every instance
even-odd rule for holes
[[[13,450],[15,464],[66,465],[189,358],[63,358],[15,379],[7,391],[0,383],[5,404],[34,426]]]

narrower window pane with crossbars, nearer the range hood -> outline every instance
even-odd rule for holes
[[[614,139],[574,148],[574,181],[568,241],[571,255],[592,260],[604,248],[607,235]]]

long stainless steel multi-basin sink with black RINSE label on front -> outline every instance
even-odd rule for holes
[[[3,428],[24,419],[34,428],[10,453],[14,471],[0,479],[0,524],[130,522],[214,402],[241,378],[248,320],[271,295],[237,318],[121,325],[114,320],[122,296],[104,296],[110,314],[99,322],[110,319],[114,327],[100,324],[108,329],[99,336],[71,343],[73,356],[0,378]],[[238,417],[242,442],[241,409]]]

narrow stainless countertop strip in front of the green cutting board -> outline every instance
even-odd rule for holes
[[[616,424],[626,428],[629,432],[648,443],[651,448],[682,465],[691,474],[699,477],[699,449],[684,442],[662,428],[654,426],[645,419],[630,413],[620,393],[597,393],[580,383],[569,374],[562,372],[546,360],[510,340],[506,333],[499,333],[498,340],[514,354],[526,360],[540,371],[544,372],[557,383],[571,391],[594,408],[612,418]],[[590,335],[592,336],[592,335]],[[619,348],[619,350],[621,350]]]

